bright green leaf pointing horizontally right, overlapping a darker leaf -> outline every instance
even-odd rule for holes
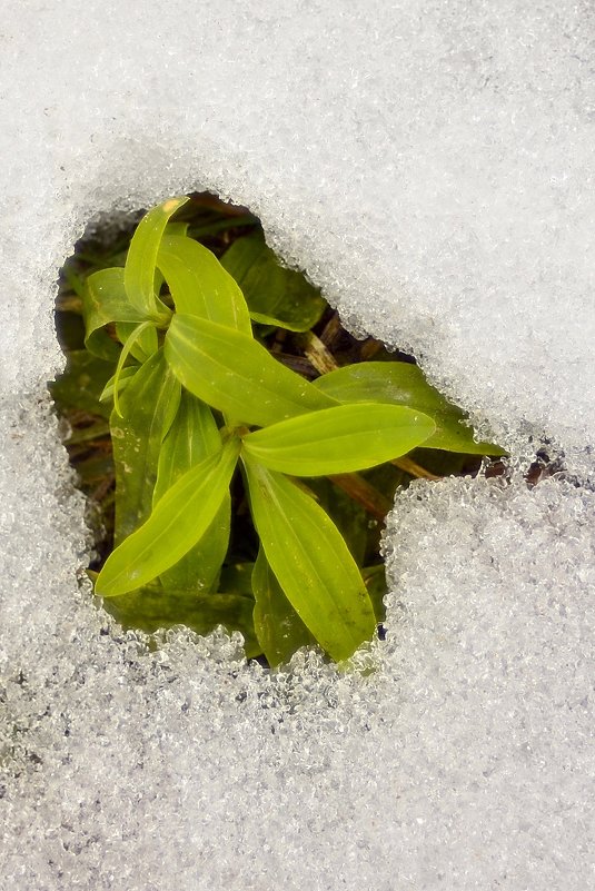
[[[327,476],[364,471],[422,445],[436,429],[398,405],[339,405],[292,417],[244,437],[244,449],[271,471]]]

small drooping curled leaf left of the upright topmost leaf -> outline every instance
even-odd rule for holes
[[[105,330],[105,326],[125,321],[133,327],[147,318],[130,305],[123,286],[123,269],[117,267],[101,269],[89,276],[85,283],[82,316],[85,346],[89,353],[113,362],[118,360],[120,347]]]

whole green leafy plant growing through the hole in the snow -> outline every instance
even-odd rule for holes
[[[116,365],[101,394],[113,399],[116,546],[96,593],[149,611],[157,598],[161,612],[165,598],[185,600],[207,625],[240,627],[271,665],[313,642],[344,660],[379,621],[378,573],[319,503],[319,478],[374,498],[357,472],[418,446],[502,451],[476,444],[415,365],[330,363],[309,382],[279,363],[262,333],[309,336],[324,301],[287,287],[258,234],[220,263],[171,222],[186,201],[142,218],[123,267],[78,283],[81,367]],[[238,466],[258,536],[249,567],[226,564]]]

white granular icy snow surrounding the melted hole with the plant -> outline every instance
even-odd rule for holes
[[[595,881],[593,8],[4,0],[0,885]],[[344,318],[409,348],[517,466],[388,521],[388,637],[267,675],[91,602],[44,382],[93,215],[211,188]]]

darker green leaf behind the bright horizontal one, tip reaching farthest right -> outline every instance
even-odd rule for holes
[[[469,455],[504,455],[494,443],[476,443],[465,415],[432,387],[417,365],[405,362],[365,362],[346,365],[313,383],[321,393],[341,403],[406,405],[429,415],[436,432],[424,448],[442,448]]]

